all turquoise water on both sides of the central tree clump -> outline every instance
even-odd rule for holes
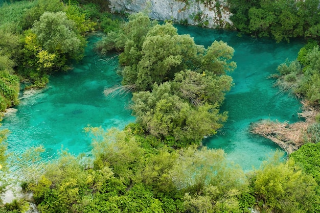
[[[221,110],[229,112],[228,122],[218,134],[204,144],[222,148],[227,158],[245,170],[259,167],[262,160],[278,148],[270,140],[248,132],[249,124],[260,119],[295,122],[300,111],[298,100],[279,94],[272,88],[274,80],[267,77],[276,72],[279,63],[294,59],[303,43],[277,44],[271,40],[237,37],[235,32],[176,26],[180,34],[190,34],[197,44],[210,45],[222,40],[233,46],[237,69],[231,74],[235,86],[226,95]],[[134,117],[127,109],[130,96],[107,99],[103,88],[120,84],[116,74],[117,61],[102,62],[92,51],[97,37],[89,38],[86,58],[66,74],[50,78],[48,90],[24,99],[16,114],[7,116],[3,128],[8,137],[9,151],[22,153],[31,146],[43,145],[47,156],[63,146],[78,154],[89,152],[90,138],[83,132],[88,124],[123,128]]]

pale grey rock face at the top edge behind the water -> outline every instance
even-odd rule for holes
[[[208,28],[232,28],[226,0],[109,0],[109,8],[118,13],[148,11],[150,18],[158,20]]]

